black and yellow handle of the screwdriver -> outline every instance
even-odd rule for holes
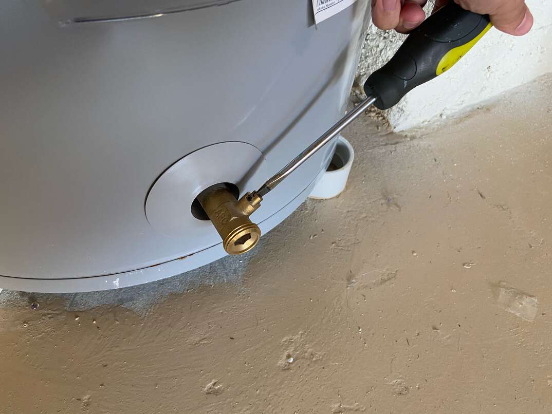
[[[391,60],[368,77],[364,92],[377,98],[377,108],[391,108],[413,88],[449,70],[491,26],[489,15],[451,1],[408,35]]]

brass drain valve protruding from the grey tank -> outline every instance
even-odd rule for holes
[[[197,200],[222,238],[226,253],[248,252],[261,238],[261,229],[249,218],[261,205],[259,195],[246,193],[237,199],[231,185],[219,183],[203,190]]]

